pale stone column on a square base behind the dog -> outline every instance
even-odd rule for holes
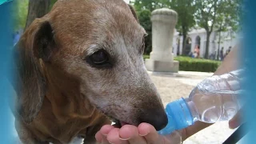
[[[146,69],[155,72],[178,72],[178,62],[172,53],[174,28],[178,14],[174,10],[162,8],[154,10],[152,22],[152,52],[146,59]]]

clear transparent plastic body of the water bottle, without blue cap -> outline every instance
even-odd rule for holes
[[[242,104],[242,98],[238,97],[242,92],[242,71],[206,78],[192,90],[186,103],[194,121],[227,121],[237,114]]]

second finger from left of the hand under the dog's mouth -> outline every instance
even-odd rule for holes
[[[118,128],[114,128],[110,131],[110,133],[107,135],[106,139],[111,144],[129,144],[128,141],[123,141],[119,138],[119,130]]]

